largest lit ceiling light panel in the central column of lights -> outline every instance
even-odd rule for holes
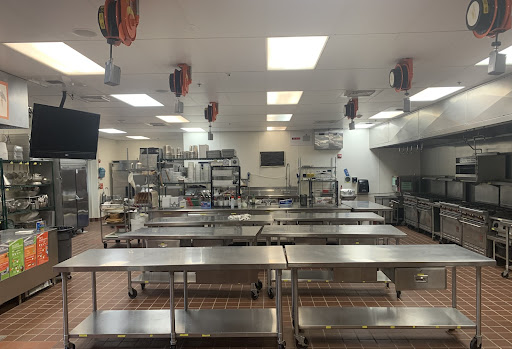
[[[328,36],[267,38],[267,70],[315,69]]]

